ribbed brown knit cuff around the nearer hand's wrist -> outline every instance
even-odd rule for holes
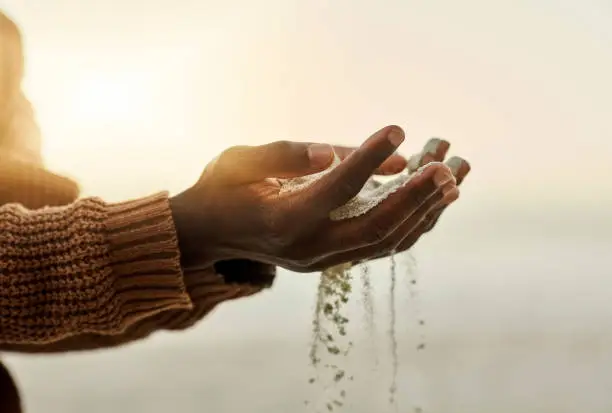
[[[193,308],[166,192],[109,204],[105,226],[123,326]]]

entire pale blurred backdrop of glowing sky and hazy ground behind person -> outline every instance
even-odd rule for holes
[[[606,0],[0,0],[25,37],[45,157],[85,194],[180,191],[235,144],[358,145],[386,124],[473,172],[399,257],[398,407],[389,263],[377,332],[350,307],[350,412],[612,411],[612,5]],[[418,294],[408,292],[418,277]],[[3,356],[28,412],[314,411],[317,277],[122,349]],[[356,285],[358,288],[358,285]],[[417,314],[426,326],[416,324]],[[427,347],[416,351],[420,335]],[[374,350],[375,344],[376,349]],[[374,369],[374,352],[380,365]]]

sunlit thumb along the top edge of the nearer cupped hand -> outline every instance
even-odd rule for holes
[[[214,164],[214,174],[232,183],[266,178],[295,178],[331,165],[334,149],[327,144],[278,141],[261,146],[235,146]]]

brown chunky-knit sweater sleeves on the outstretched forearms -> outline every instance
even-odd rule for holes
[[[218,303],[263,288],[215,269],[184,274],[179,263],[165,193],[33,211],[0,207],[0,347],[123,344],[187,328]]]

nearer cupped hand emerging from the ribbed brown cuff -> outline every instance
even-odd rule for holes
[[[373,174],[401,170],[405,160],[392,155],[403,140],[400,128],[383,128],[353,152],[340,148],[342,163],[310,187],[283,194],[270,178],[324,170],[333,148],[276,142],[229,149],[192,188],[171,199],[184,266],[248,259],[309,272],[396,249],[426,216],[457,199],[455,178],[444,164],[429,164],[360,217],[332,221],[329,213]]]

